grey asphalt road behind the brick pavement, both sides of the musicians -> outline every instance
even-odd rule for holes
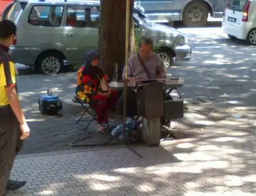
[[[256,47],[229,39],[220,27],[179,31],[188,36],[193,59],[177,62],[168,72],[185,79],[179,91],[194,109],[186,112],[183,120],[174,122],[174,127],[185,130],[185,135],[188,131],[199,134],[202,129],[210,130],[208,135],[229,130],[233,134],[245,128],[254,134]],[[31,70],[24,66],[18,69],[25,74],[18,77],[19,97],[33,131],[21,153],[69,149],[68,144],[84,138],[86,133],[75,128],[74,118],[41,116],[36,104],[47,89],[60,97],[72,97],[75,73],[42,76],[30,74]]]

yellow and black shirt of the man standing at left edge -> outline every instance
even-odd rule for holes
[[[9,104],[6,87],[16,85],[15,64],[8,55],[8,49],[0,46],[0,106]]]

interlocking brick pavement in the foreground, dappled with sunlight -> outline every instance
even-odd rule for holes
[[[9,195],[256,195],[255,135],[19,155]]]

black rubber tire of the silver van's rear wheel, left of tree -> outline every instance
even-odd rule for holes
[[[46,53],[40,54],[40,56],[37,58],[37,61],[35,64],[36,72],[48,75],[47,73],[43,72],[42,67],[41,67],[43,59],[45,59],[47,57],[55,57],[58,59],[58,61],[60,61],[61,67],[60,67],[60,70],[57,72],[57,73],[60,73],[64,67],[64,63],[63,63],[64,57],[62,56],[62,54],[60,54],[58,52],[46,52]],[[53,73],[53,74],[57,74],[57,73]]]

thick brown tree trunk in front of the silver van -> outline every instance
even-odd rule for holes
[[[130,1],[132,7],[130,13],[132,13],[134,0]],[[115,64],[118,64],[118,79],[121,79],[125,64],[126,0],[112,0],[111,3],[109,0],[101,0],[100,13],[100,66],[107,76],[112,78]],[[132,14],[130,14],[130,22],[131,19]]]

